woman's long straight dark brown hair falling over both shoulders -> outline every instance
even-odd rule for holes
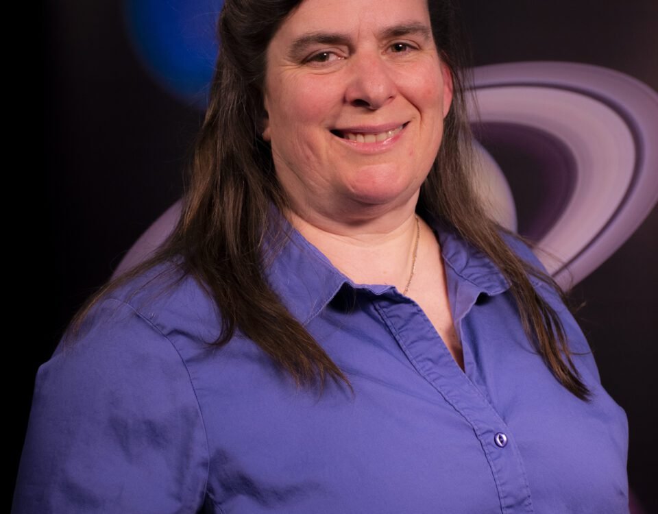
[[[71,323],[75,334],[105,293],[165,261],[178,262],[204,286],[221,313],[215,344],[236,330],[252,339],[297,385],[348,378],[283,306],[265,280],[265,234],[282,244],[282,227],[269,206],[282,212],[287,199],[274,173],[271,150],[261,137],[265,53],[271,38],[302,0],[226,0],[219,16],[221,47],[210,104],[188,166],[182,215],[158,252],[103,286]],[[559,291],[550,277],[518,258],[501,229],[478,204],[470,186],[471,132],[465,108],[463,38],[450,0],[428,0],[439,54],[452,71],[454,97],[439,154],[422,186],[418,210],[438,217],[489,256],[510,284],[524,330],[557,380],[577,397],[589,391],[572,363],[559,316],[535,291],[529,276]],[[268,248],[276,249],[276,244]],[[269,254],[271,256],[271,252]]]

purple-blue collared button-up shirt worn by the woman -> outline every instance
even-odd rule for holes
[[[221,323],[191,278],[158,295],[153,269],[110,293],[38,371],[13,512],[628,513],[626,416],[568,310],[535,283],[589,403],[535,352],[496,267],[437,236],[465,371],[415,302],[297,232],[269,269],[354,397],[295,389],[241,336],[206,345]]]

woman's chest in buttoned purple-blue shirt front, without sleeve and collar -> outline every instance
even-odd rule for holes
[[[354,395],[229,345],[194,374],[222,512],[624,512],[623,413],[570,397],[492,307],[463,319],[466,373],[415,302],[328,309],[308,328]]]

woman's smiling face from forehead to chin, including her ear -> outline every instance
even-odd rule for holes
[[[269,44],[264,98],[297,214],[415,205],[452,100],[426,0],[304,0]]]

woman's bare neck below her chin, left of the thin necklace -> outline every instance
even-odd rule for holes
[[[324,217],[288,212],[311,244],[357,284],[388,284],[403,292],[413,267],[419,228],[415,201],[377,215]],[[422,236],[421,242],[422,242]]]

